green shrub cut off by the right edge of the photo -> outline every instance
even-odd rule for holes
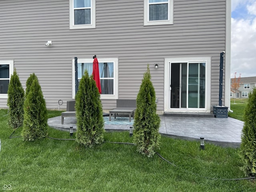
[[[256,88],[248,95],[241,139],[242,170],[247,176],[256,176]]]

